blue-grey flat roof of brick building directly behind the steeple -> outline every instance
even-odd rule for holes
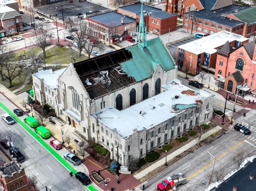
[[[124,9],[129,12],[135,13],[136,15],[140,15],[141,14],[141,3],[125,5],[125,6],[119,7],[118,9]],[[144,16],[146,16],[146,14],[148,12],[148,14],[151,14],[152,17],[155,17],[156,19],[160,19],[160,20],[175,16],[174,14],[162,11],[162,9],[158,9],[156,7],[152,7],[152,6],[145,5],[145,4],[143,5],[143,12],[144,12]]]

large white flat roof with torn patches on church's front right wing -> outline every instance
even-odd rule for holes
[[[179,84],[165,84],[162,86],[166,89],[165,92],[148,98],[127,109],[119,111],[115,107],[108,107],[100,110],[95,115],[99,117],[99,121],[109,128],[113,130],[116,128],[115,131],[122,135],[122,137],[128,137],[132,135],[132,130],[135,128],[137,130],[142,130],[143,128],[149,129],[175,116],[177,112],[174,112],[172,109],[172,105],[174,104],[194,104],[196,103],[195,100],[204,100],[212,96],[211,93],[203,90],[196,91],[198,94],[194,96],[182,94],[182,91],[192,89],[181,85],[178,79],[175,79],[175,82]],[[175,95],[179,95],[180,97],[174,99]],[[141,111],[146,112],[146,114],[141,115]]]

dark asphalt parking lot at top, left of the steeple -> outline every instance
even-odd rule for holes
[[[78,12],[87,14],[87,16],[89,16],[90,14],[101,12],[107,10],[108,8],[96,5],[88,1],[78,2],[74,0],[72,3],[69,3],[68,1],[58,1],[49,5],[37,7],[36,9],[45,13],[46,16],[51,15],[53,18],[57,14],[57,17],[61,20],[63,9],[64,21],[68,21],[69,19],[72,21],[74,19],[74,21],[76,21],[78,19],[76,16]]]

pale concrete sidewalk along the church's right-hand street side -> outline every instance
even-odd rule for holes
[[[220,129],[222,129],[222,128],[220,126],[217,126],[213,129],[207,131],[206,133],[204,133],[201,136],[201,140],[204,140],[207,137],[213,135],[214,133],[216,133]],[[198,143],[198,138],[196,138],[196,139],[192,140],[191,142],[185,144],[183,147],[180,147],[176,151],[173,151],[171,154],[167,155],[167,161],[172,160],[172,158],[175,158],[175,156],[178,156],[179,154],[182,154],[184,151],[187,151],[187,149],[190,149],[191,147],[193,147],[197,143]],[[134,177],[136,179],[140,179],[140,178],[146,176],[149,172],[155,170],[156,168],[158,168],[158,167],[160,167],[161,165],[164,165],[164,164],[165,164],[165,157],[160,159],[159,161],[157,161],[153,165],[149,166],[148,168],[145,168],[144,170],[142,170],[138,174],[134,175]]]

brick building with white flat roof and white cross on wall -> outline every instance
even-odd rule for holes
[[[199,40],[189,42],[177,47],[176,63],[178,68],[184,69],[185,64],[191,65],[192,74],[196,75],[202,70],[215,73],[217,49],[229,41],[232,47],[239,47],[249,40],[241,35],[227,32],[225,30],[203,37]]]

